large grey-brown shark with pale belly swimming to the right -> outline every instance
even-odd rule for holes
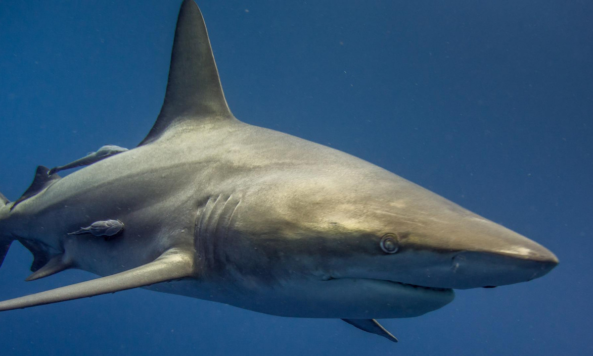
[[[82,167],[64,177],[59,171]],[[202,13],[181,4],[164,103],[135,148],[106,145],[0,194],[0,265],[27,281],[98,275],[0,302],[0,311],[132,288],[284,317],[377,319],[444,307],[454,290],[530,281],[552,252],[390,171],[232,115]]]

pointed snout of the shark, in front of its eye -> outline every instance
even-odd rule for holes
[[[531,281],[558,264],[546,247],[495,222],[477,217],[456,222],[400,239],[403,263],[397,263],[392,279],[438,288],[496,287]]]

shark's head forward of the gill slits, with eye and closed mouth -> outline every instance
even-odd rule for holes
[[[452,289],[530,281],[558,263],[540,244],[393,173],[327,164],[279,173],[289,179],[263,183],[231,221],[234,243],[254,256],[241,268],[285,289],[285,303],[291,294],[307,300],[301,314],[312,304],[318,317],[416,316],[449,303]]]

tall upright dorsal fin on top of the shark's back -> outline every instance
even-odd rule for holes
[[[193,0],[185,0],[177,18],[165,100],[157,122],[140,145],[174,127],[229,119],[234,116],[222,93],[202,13]]]

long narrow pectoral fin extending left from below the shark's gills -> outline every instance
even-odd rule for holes
[[[115,293],[194,275],[193,253],[170,249],[159,258],[118,274],[0,302],[0,311]]]

